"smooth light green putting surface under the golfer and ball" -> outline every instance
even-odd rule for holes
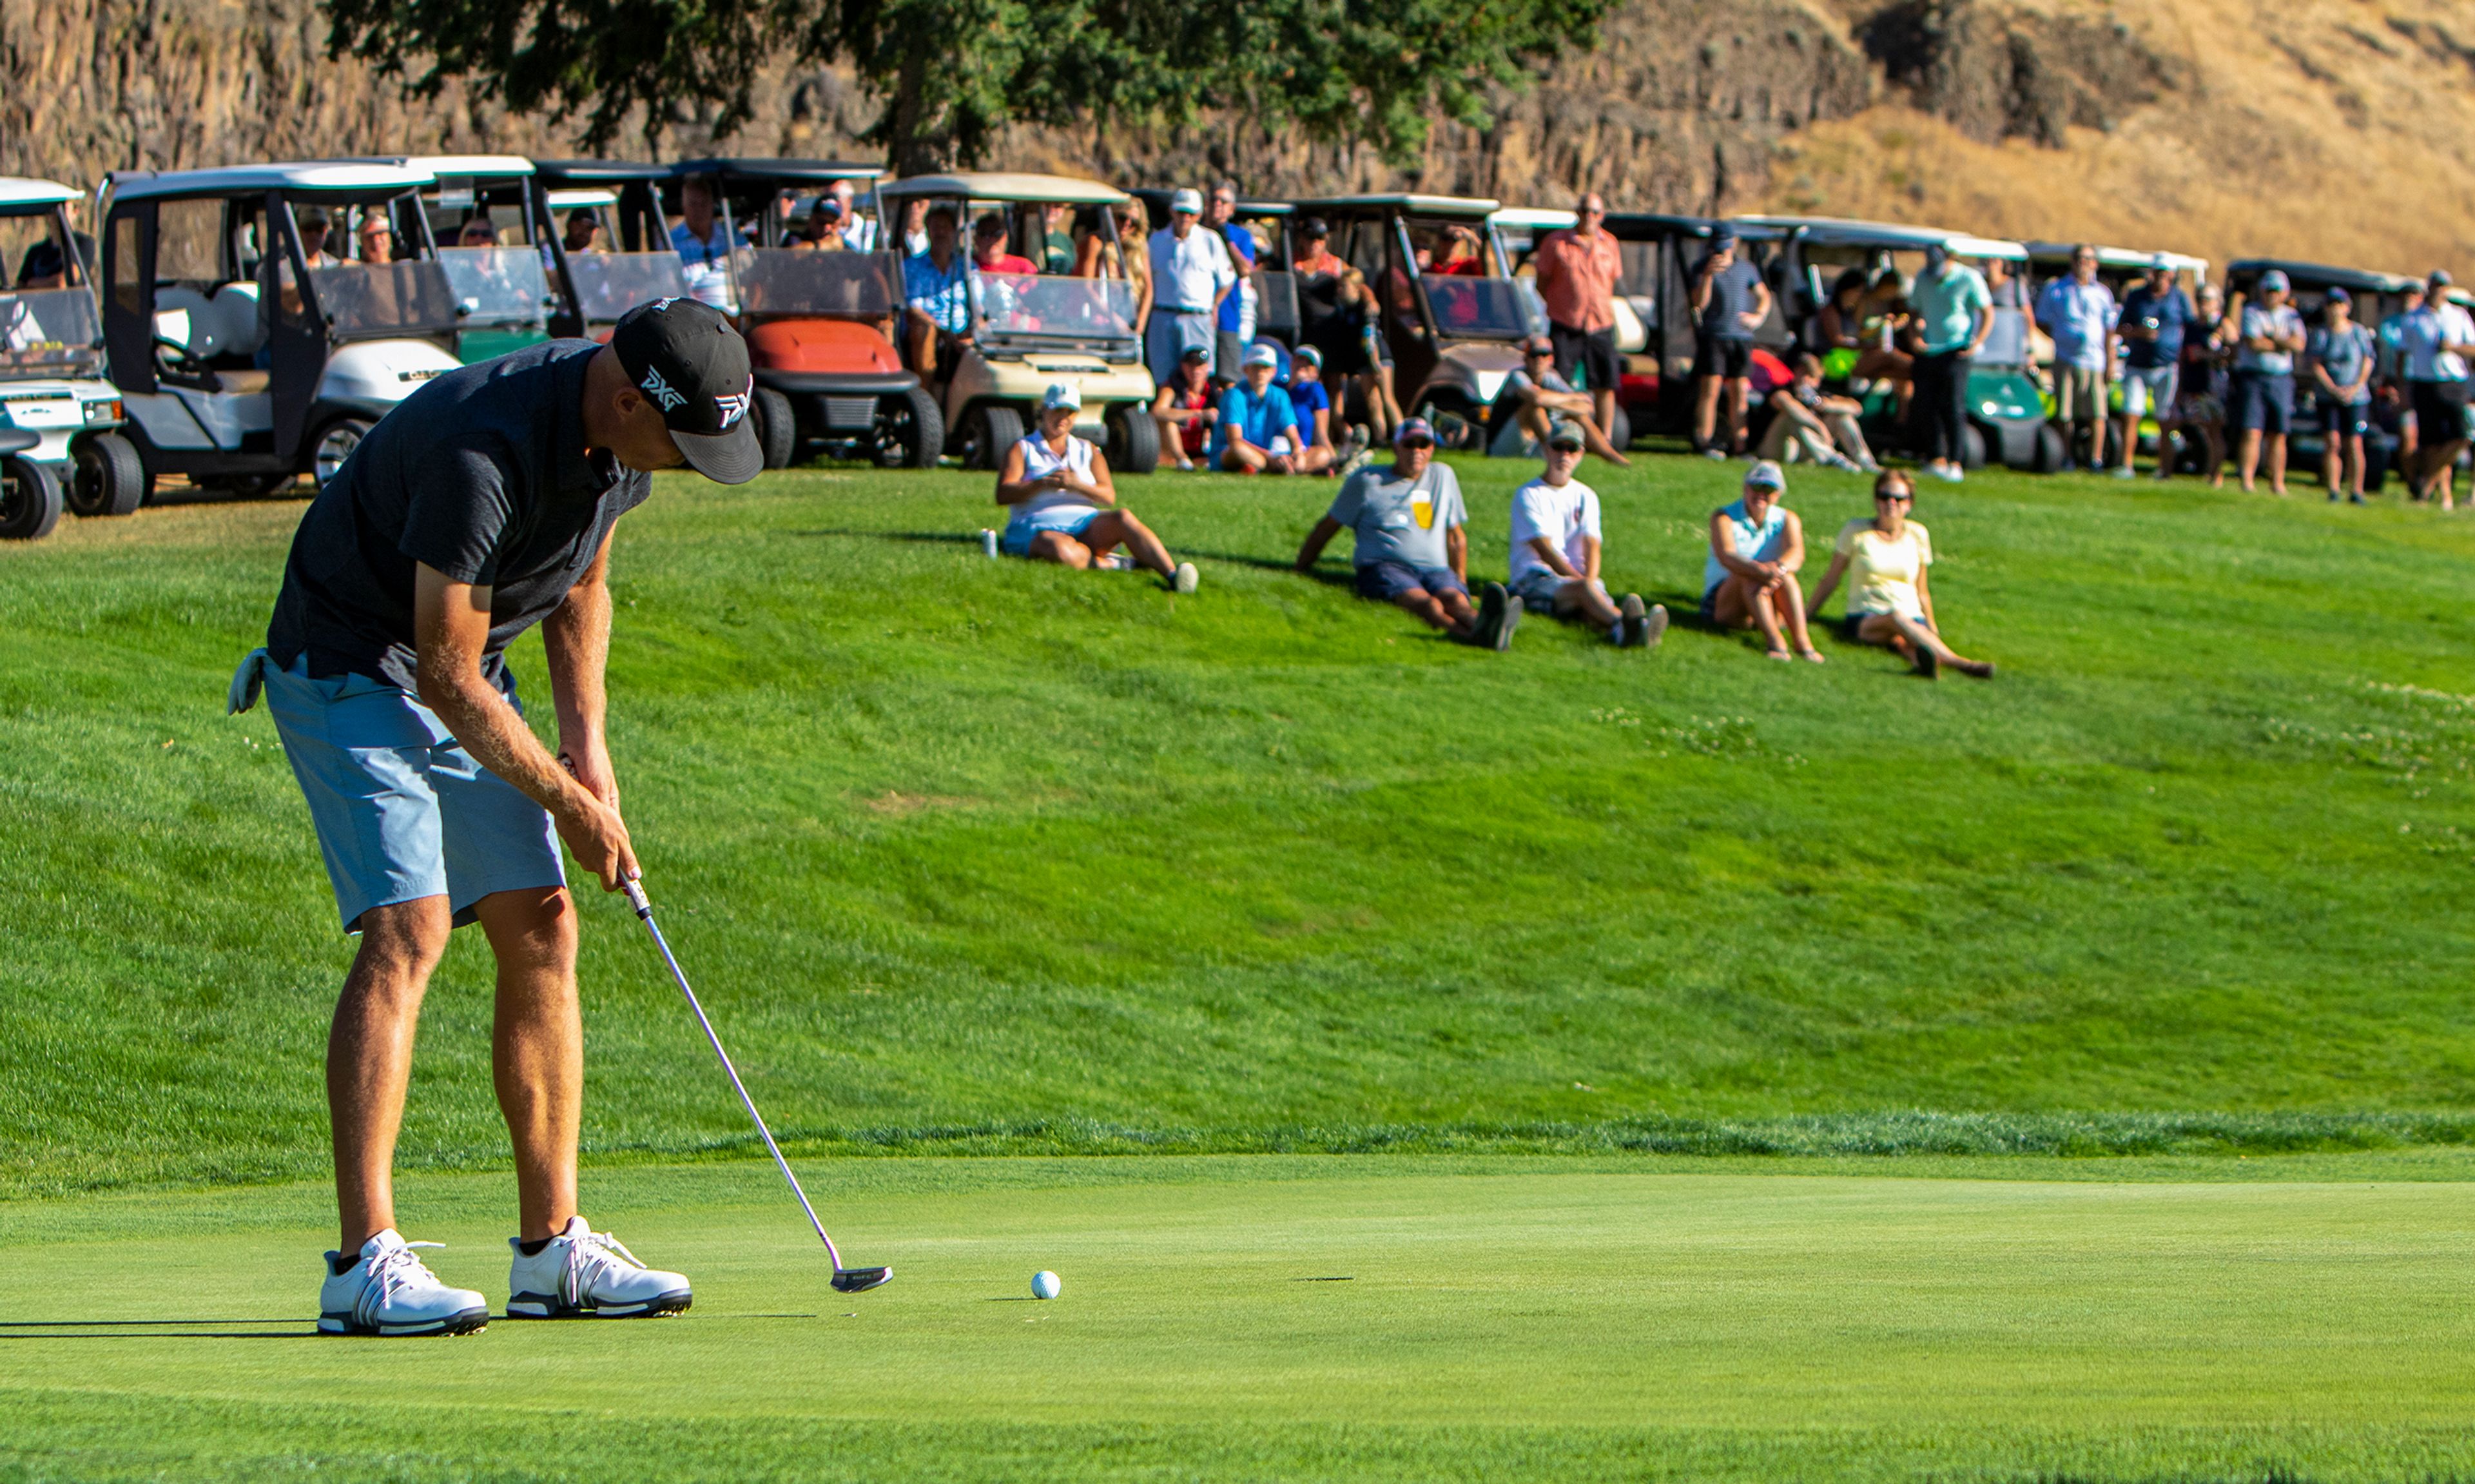
[[[592,1214],[686,1268],[695,1311],[433,1343],[233,1338],[307,1328],[322,1187],[15,1204],[0,1477],[2475,1469],[2475,1189],[2398,1179],[2413,1157],[2312,1169],[812,1164],[854,1261],[898,1271],[864,1298],[827,1288],[770,1167],[604,1169]],[[411,1236],[495,1301],[505,1187],[406,1187]],[[1030,1298],[1037,1268],[1064,1298]]]

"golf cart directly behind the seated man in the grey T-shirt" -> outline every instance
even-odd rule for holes
[[[1478,446],[1505,377],[1520,369],[1530,300],[1487,220],[1500,203],[1463,196],[1327,196],[1299,216],[1332,228],[1332,253],[1381,300],[1401,406],[1436,424],[1448,448]],[[1475,248],[1465,270],[1436,273],[1438,253]]]

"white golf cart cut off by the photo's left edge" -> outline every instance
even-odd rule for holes
[[[0,270],[57,277],[0,292],[0,540],[47,535],[62,508],[129,515],[146,500],[139,451],[116,431],[121,394],[101,369],[92,250],[67,211],[77,198],[57,181],[0,176]]]

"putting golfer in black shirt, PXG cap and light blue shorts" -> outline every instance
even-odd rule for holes
[[[468,922],[497,956],[493,1063],[520,1214],[507,1318],[688,1308],[686,1278],[577,1214],[584,1026],[559,840],[604,892],[636,875],[601,731],[611,525],[656,468],[755,478],[752,391],[723,315],[661,300],[606,347],[554,339],[428,382],[302,515],[230,706],[265,689],[344,932],[361,934],[327,1036],[344,1241],[327,1254],[324,1333],[458,1335],[490,1318],[396,1234],[394,1202],[421,993]],[[505,664],[535,624],[557,756]]]

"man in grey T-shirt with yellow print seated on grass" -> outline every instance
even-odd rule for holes
[[[1406,607],[1463,644],[1505,649],[1522,609],[1502,582],[1487,582],[1470,607],[1470,538],[1460,481],[1436,463],[1436,429],[1423,416],[1401,419],[1388,468],[1366,466],[1341,481],[1332,510],[1297,548],[1297,570],[1312,572],[1339,533],[1351,533],[1359,597]]]

